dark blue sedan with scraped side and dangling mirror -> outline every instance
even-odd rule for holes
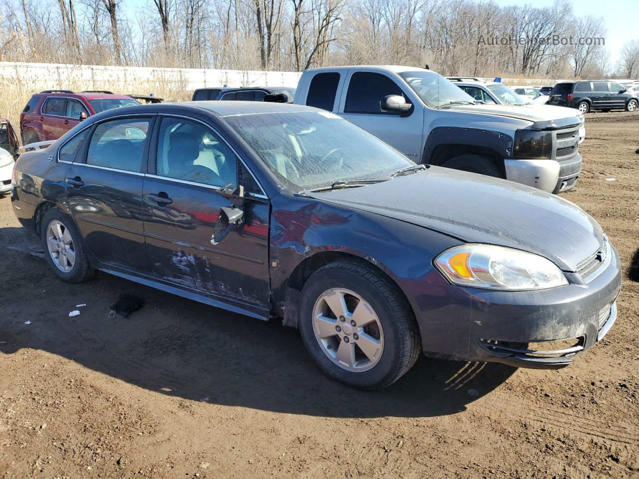
[[[617,317],[617,251],[580,208],[417,165],[309,107],[109,110],[20,156],[12,204],[61,280],[102,270],[282,317],[359,388],[422,352],[564,367]]]

